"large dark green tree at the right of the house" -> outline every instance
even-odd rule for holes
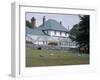
[[[70,31],[70,37],[79,47],[85,47],[89,53],[89,15],[79,16],[79,24],[75,24]]]

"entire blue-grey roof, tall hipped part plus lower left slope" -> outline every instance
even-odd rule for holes
[[[49,19],[45,22],[45,26],[43,26],[42,24],[39,27],[34,29],[26,27],[26,34],[47,36],[45,35],[43,30],[56,30],[56,31],[67,32],[67,29],[64,26],[62,26],[60,23],[58,23],[56,20]]]

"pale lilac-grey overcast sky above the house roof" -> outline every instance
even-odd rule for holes
[[[68,29],[71,29],[74,24],[79,23],[80,18],[77,14],[48,14],[48,13],[26,13],[26,20],[31,22],[31,18],[35,17],[36,19],[36,26],[39,26],[43,23],[43,16],[45,16],[46,21],[48,19],[54,19],[58,22],[62,21],[62,25]]]

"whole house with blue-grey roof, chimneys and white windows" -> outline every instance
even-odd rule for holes
[[[54,19],[46,21],[43,17],[43,23],[36,27],[36,19],[31,19],[32,28],[26,27],[26,42],[35,45],[54,45],[58,47],[76,48],[76,42],[69,38],[69,31],[63,26],[62,22]]]

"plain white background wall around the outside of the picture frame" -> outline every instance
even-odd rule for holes
[[[11,2],[22,0],[0,1],[0,80],[14,80],[10,77],[11,67]],[[23,0],[38,5],[77,5],[94,6],[97,8],[94,50],[97,55],[97,71],[87,74],[65,74],[54,76],[34,76],[32,78],[18,78],[16,80],[100,80],[100,0]]]

